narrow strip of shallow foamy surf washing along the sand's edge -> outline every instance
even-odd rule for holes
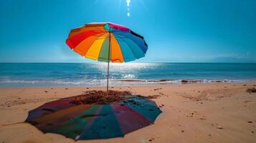
[[[1,87],[105,87],[106,79],[93,81],[98,84],[80,84],[80,82],[42,82],[42,81],[12,81],[1,83]],[[86,82],[86,81],[85,81]],[[159,85],[182,85],[182,84],[209,84],[209,83],[247,83],[256,82],[252,80],[231,80],[231,79],[110,79],[112,87],[126,86],[159,86]]]

